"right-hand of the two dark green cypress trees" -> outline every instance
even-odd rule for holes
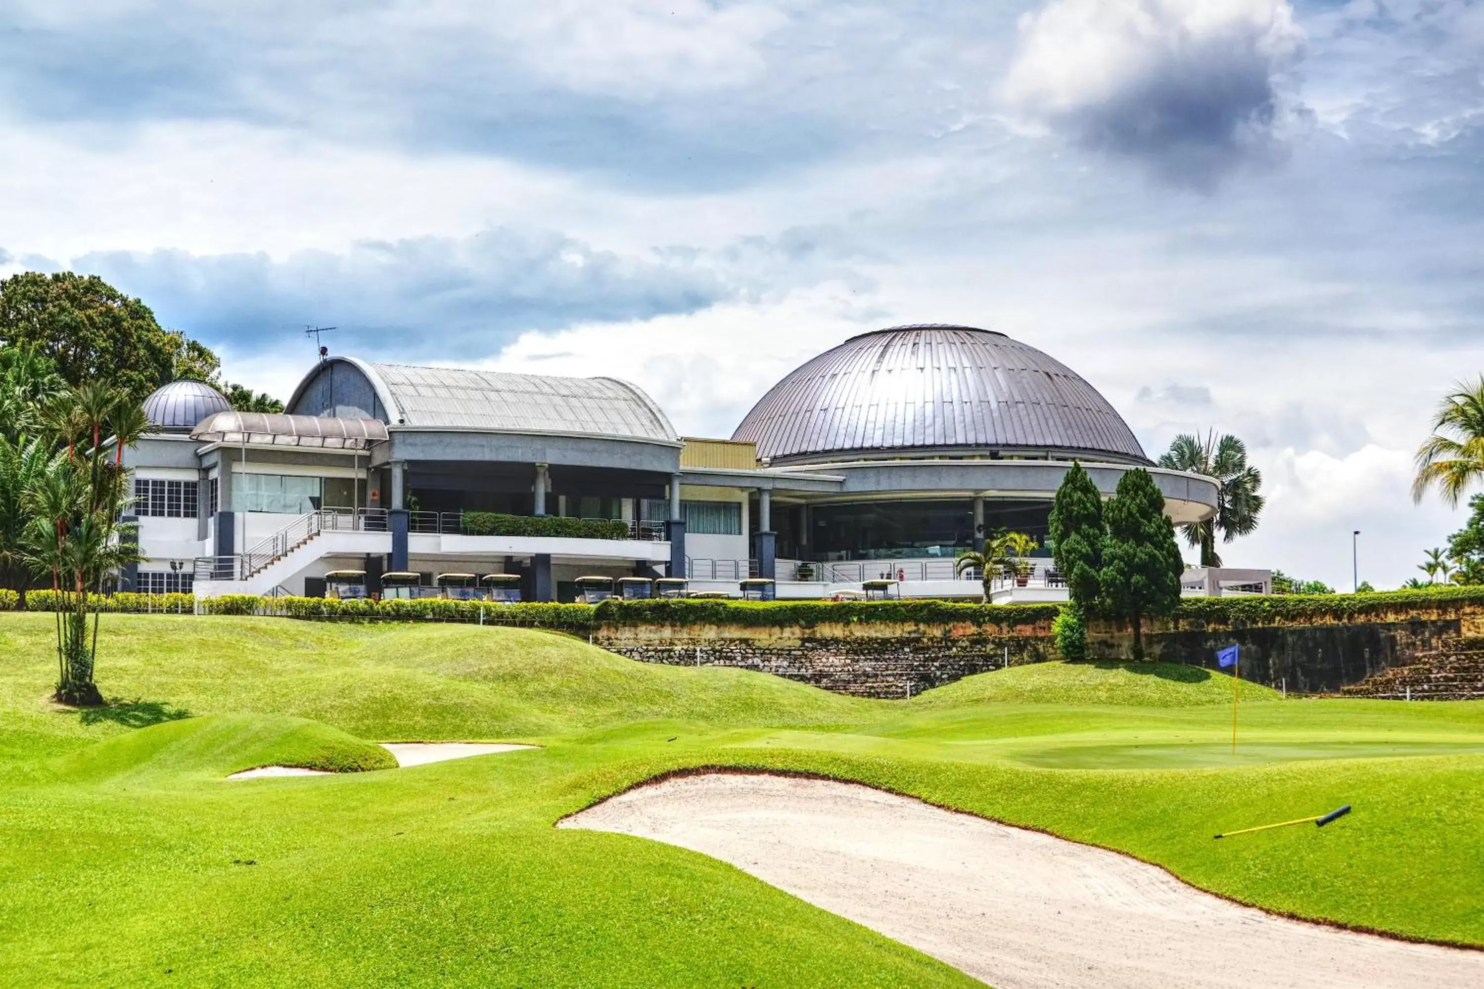
[[[1165,497],[1147,470],[1129,470],[1103,507],[1107,535],[1103,540],[1100,605],[1114,618],[1134,623],[1134,658],[1144,658],[1140,623],[1144,617],[1166,617],[1180,603],[1180,574],[1184,560],[1175,543],[1175,526],[1165,516]]]

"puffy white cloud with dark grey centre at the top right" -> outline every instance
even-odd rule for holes
[[[1287,0],[1048,0],[1020,19],[1002,95],[1077,141],[1205,185],[1272,157],[1275,77],[1300,55]]]

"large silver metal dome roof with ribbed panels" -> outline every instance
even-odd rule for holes
[[[732,439],[773,463],[957,452],[1143,463],[1097,388],[1060,360],[972,326],[852,337],[779,381]]]

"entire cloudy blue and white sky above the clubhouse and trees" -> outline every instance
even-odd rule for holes
[[[730,434],[892,323],[1000,329],[1158,454],[1251,446],[1233,565],[1396,586],[1484,371],[1484,0],[7,0],[0,274],[96,273],[286,397],[337,351],[644,386]]]

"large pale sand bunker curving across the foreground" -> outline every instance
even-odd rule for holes
[[[1112,851],[849,783],[678,777],[558,826],[714,856],[996,989],[1484,986],[1484,952],[1272,916]]]

